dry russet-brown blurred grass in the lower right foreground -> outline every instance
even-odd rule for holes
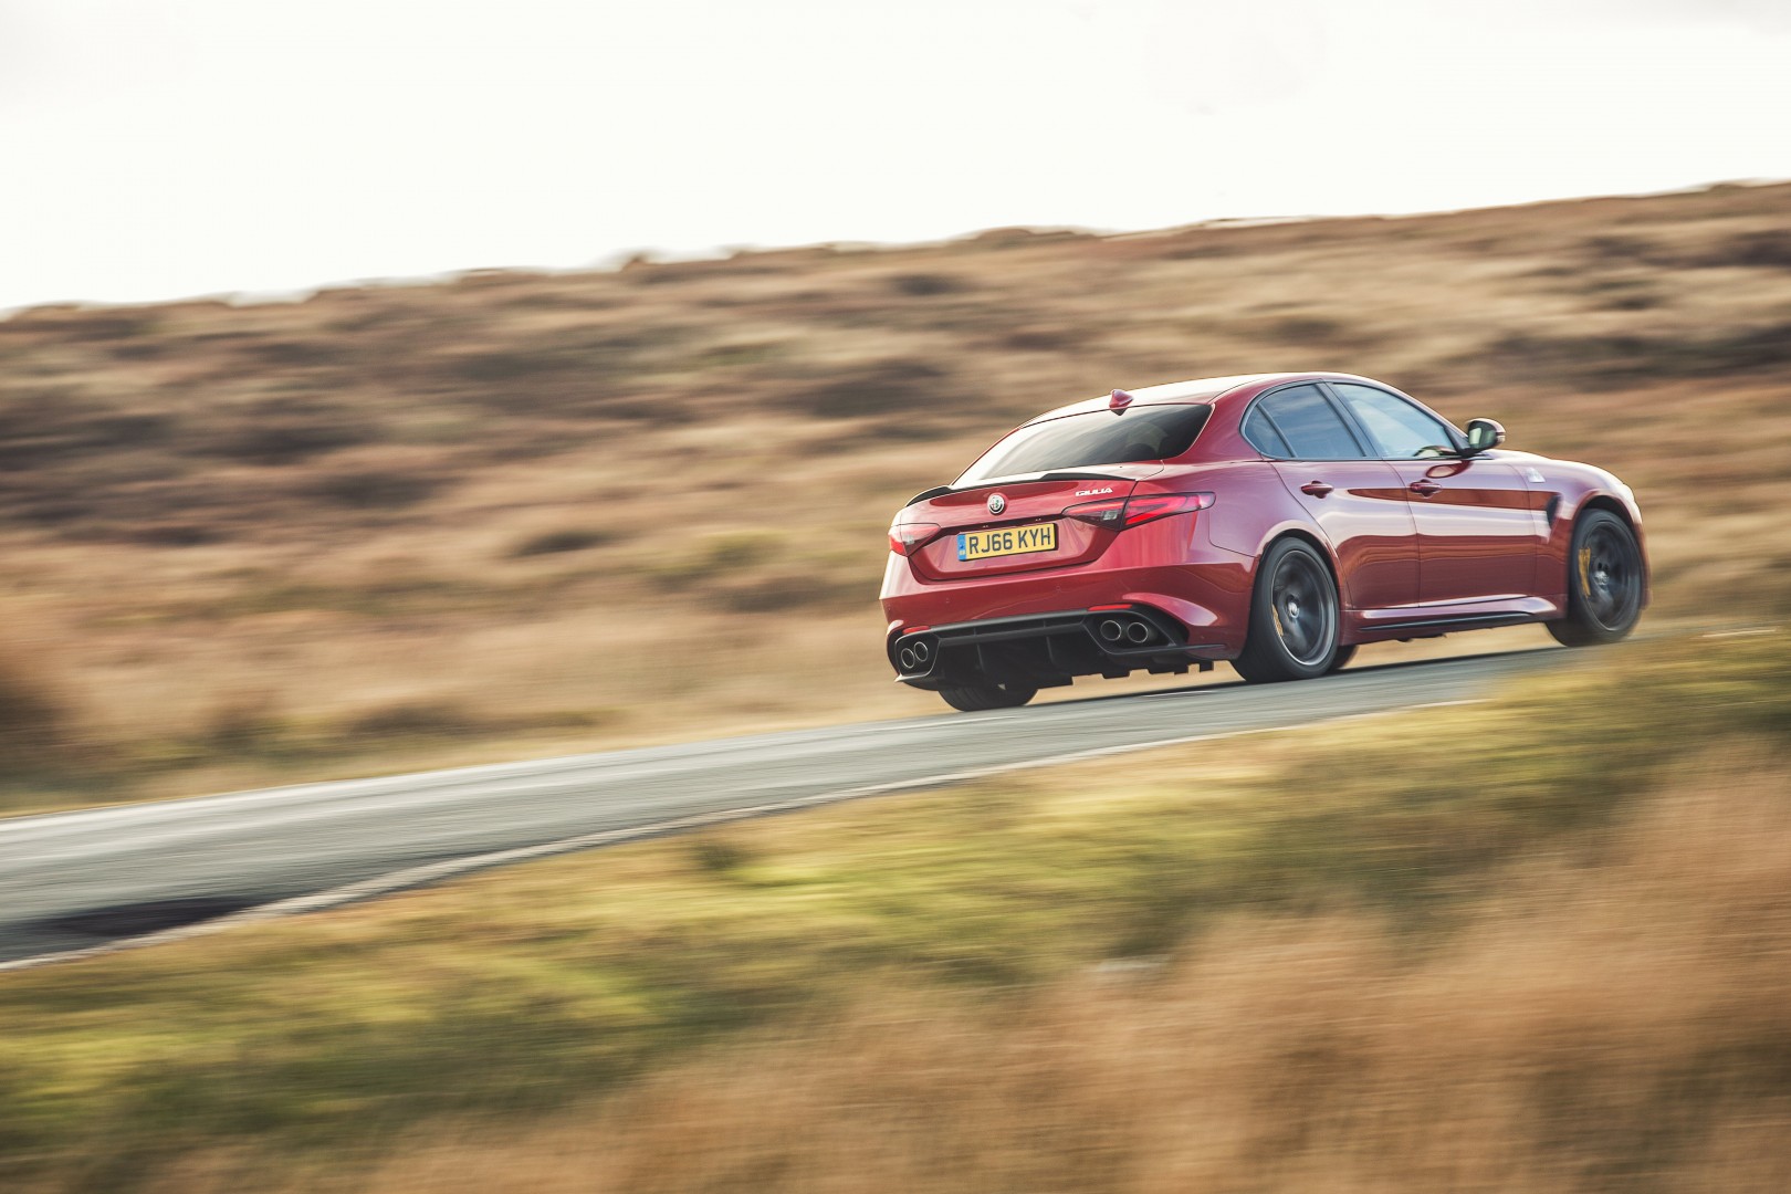
[[[353,1189],[1784,1190],[1791,770],[1692,770],[1435,949],[1245,915],[1017,1013],[885,992],[521,1133],[412,1135]]]

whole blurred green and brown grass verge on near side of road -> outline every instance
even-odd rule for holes
[[[1621,1185],[1639,1139],[1666,1173],[1748,1153],[1748,1124],[1791,1106],[1786,979],[1748,968],[1791,938],[1766,883],[1768,847],[1791,843],[1787,732],[1777,637],[1598,652],[1522,700],[1001,777],[11,976],[0,1185],[460,1189],[523,1164],[523,1139],[580,1158],[543,1189],[894,1189],[842,1178],[853,1155],[901,1189],[1293,1189],[1361,1122],[1381,1151],[1334,1185],[1388,1189],[1372,1181],[1397,1171],[1388,1142],[1424,1137],[1431,1099],[1474,1094],[1438,1058],[1501,1040],[1521,1047],[1474,1106],[1528,1124],[1510,1173],[1556,1156],[1585,1189]],[[1734,759],[1762,779],[1732,804]],[[1642,900],[1660,865],[1635,841],[1701,843],[1660,888],[1673,899]],[[1739,895],[1725,843],[1755,875]],[[1705,942],[1718,956],[1685,954],[1730,899],[1752,902]],[[1578,906],[1633,915],[1580,924]],[[1673,949],[1648,940],[1655,915]],[[1630,1019],[1544,1013],[1569,929],[1619,970],[1633,945],[1594,1008]],[[1757,999],[1700,1004],[1694,965]],[[1109,992],[1114,974],[1161,977]],[[1531,990],[1531,1035],[1463,1013],[1492,1010],[1474,992],[1492,974]],[[1635,1011],[1657,992],[1689,1002]],[[1725,1006],[1734,1031],[1698,1028]],[[1125,1074],[1096,1063],[1101,1024],[1141,1035],[1114,1056],[1148,1058],[1161,1031],[1139,1097],[1187,1112],[1205,1090],[1229,1144],[1200,1121],[1187,1139],[1207,1151],[1175,1160],[1168,1112],[1127,1112]],[[1576,1051],[1585,1024],[1603,1036]],[[1648,1060],[1675,1026],[1684,1047]],[[1401,1069],[1402,1028],[1458,1054]],[[1261,1049],[1207,1056],[1259,1031]],[[1544,1049],[1556,1031],[1569,1044]],[[1171,1058],[1220,1069],[1193,1081]],[[681,1149],[663,1124],[684,1124]],[[1413,1173],[1442,1173],[1447,1153],[1413,1149]],[[1255,1169],[1200,1169],[1223,1156]]]

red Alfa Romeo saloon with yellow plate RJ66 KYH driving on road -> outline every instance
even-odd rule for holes
[[[1648,603],[1635,496],[1503,442],[1334,372],[1060,406],[896,516],[890,664],[998,709],[1220,659],[1298,680],[1361,643],[1524,621],[1569,646],[1621,639]]]

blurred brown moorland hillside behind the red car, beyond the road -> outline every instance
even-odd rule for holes
[[[1073,397],[1300,367],[1621,473],[1657,623],[1791,607],[1791,184],[39,308],[0,809],[931,712],[874,600],[908,494]]]

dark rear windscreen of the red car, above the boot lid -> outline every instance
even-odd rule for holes
[[[990,476],[1084,469],[1093,464],[1168,460],[1193,448],[1211,406],[1130,406],[1089,410],[1046,422],[1028,422],[983,453],[955,483]]]

